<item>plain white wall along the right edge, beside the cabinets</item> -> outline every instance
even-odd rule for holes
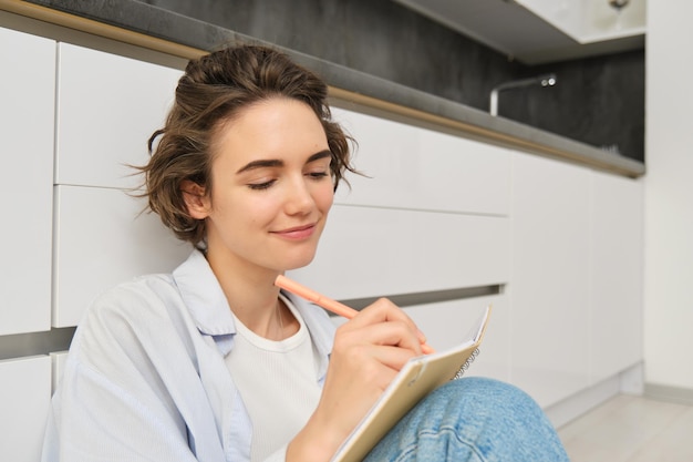
[[[648,2],[645,382],[693,389],[693,2]]]

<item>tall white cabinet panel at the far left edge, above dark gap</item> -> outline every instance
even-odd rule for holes
[[[55,42],[0,28],[0,335],[46,330]]]

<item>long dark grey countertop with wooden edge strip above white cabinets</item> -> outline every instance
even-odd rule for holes
[[[12,4],[45,7],[97,23],[107,24],[165,42],[196,50],[215,50],[225,44],[256,39],[231,30],[187,18],[136,0],[28,0],[0,2],[0,9]],[[586,143],[566,138],[508,119],[490,114],[439,96],[413,90],[324,60],[286,50],[297,62],[319,73],[332,88],[334,104],[355,105],[376,113],[396,113],[395,119],[424,121],[443,125],[465,136],[511,148],[588,165],[614,174],[638,177],[643,163],[608,153]],[[187,57],[189,58],[189,57]]]

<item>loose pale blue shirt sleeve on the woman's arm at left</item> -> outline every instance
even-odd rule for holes
[[[225,461],[185,342],[165,310],[139,301],[102,298],[80,324],[52,399],[44,462]],[[190,422],[204,422],[204,441]]]

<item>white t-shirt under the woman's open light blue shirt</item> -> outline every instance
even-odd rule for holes
[[[225,361],[252,422],[251,460],[286,445],[318,405],[318,355],[298,310],[281,300],[300,322],[298,332],[273,341],[252,332],[236,316],[237,335]]]

